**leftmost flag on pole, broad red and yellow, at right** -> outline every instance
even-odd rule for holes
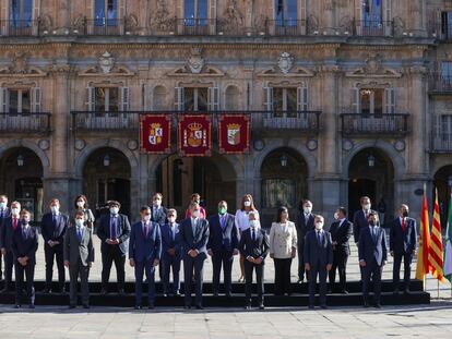
[[[430,232],[428,220],[428,204],[426,196],[426,189],[424,189],[423,210],[420,213],[420,229],[419,229],[419,247],[417,251],[416,279],[424,280],[425,276],[430,271],[430,264],[428,262],[428,252],[430,247]]]

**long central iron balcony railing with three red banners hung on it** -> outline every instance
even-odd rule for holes
[[[213,117],[214,126],[221,114],[249,114],[253,130],[295,130],[309,133],[320,131],[320,111],[72,111],[73,129],[79,132],[134,132],[140,126],[142,114],[171,114],[177,125],[179,114],[210,114]]]

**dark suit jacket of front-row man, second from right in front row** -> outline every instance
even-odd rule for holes
[[[317,231],[312,230],[306,234],[304,247],[305,264],[320,266],[326,269],[326,265],[333,264],[333,245],[331,233],[323,231],[322,243],[317,240]]]

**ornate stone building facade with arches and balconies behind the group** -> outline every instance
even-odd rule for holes
[[[36,219],[79,193],[134,219],[156,191],[418,216],[452,185],[451,33],[439,0],[1,0],[0,192]],[[153,111],[248,112],[250,153],[140,153]]]

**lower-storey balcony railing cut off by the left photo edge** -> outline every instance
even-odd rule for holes
[[[0,113],[1,133],[48,133],[50,113]]]

